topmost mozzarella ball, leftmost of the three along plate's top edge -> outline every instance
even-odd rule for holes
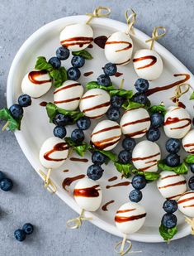
[[[73,24],[60,33],[60,43],[69,51],[81,51],[93,41],[92,27],[88,24]]]

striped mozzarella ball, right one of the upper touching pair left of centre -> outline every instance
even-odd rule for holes
[[[79,109],[88,118],[101,118],[110,107],[110,95],[104,89],[89,89],[80,100]]]

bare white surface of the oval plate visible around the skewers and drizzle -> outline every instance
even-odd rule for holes
[[[21,49],[17,52],[17,56],[12,62],[12,67],[7,80],[7,105],[17,102],[18,95],[21,94],[21,80],[26,72],[33,69],[35,65],[35,60],[37,56],[45,56],[49,59],[51,56],[54,56],[55,50],[59,47],[59,32],[67,25],[76,23],[76,22],[84,22],[87,20],[85,16],[76,16],[76,17],[65,17],[59,19],[57,21],[51,22],[44,27],[41,27],[38,31],[30,36],[27,41],[21,46]],[[114,31],[125,31],[126,25],[121,22],[117,22],[111,19],[106,18],[95,18],[91,22],[94,37],[96,36],[109,36]],[[168,36],[168,35],[167,35]],[[140,48],[148,47],[144,41],[149,37],[144,35],[141,31],[135,29],[135,36],[132,36],[135,42],[135,50]],[[192,85],[194,88],[194,80],[192,74],[187,68],[180,63],[169,51],[167,51],[163,46],[160,46],[159,43],[154,44],[154,49],[159,52],[160,56],[163,58],[164,63],[164,71],[163,75],[159,78],[159,80],[155,80],[154,82],[150,82],[150,88],[155,86],[163,86],[169,85],[177,80],[184,79],[183,76],[174,77],[174,74],[189,74],[191,75],[190,80],[187,82]],[[92,53],[94,57],[93,60],[86,60],[86,64],[81,69],[82,74],[87,71],[93,71],[94,73],[88,77],[83,77],[80,79],[81,83],[84,85],[86,82],[90,80],[96,80],[97,76],[102,74],[102,66],[105,65],[106,59],[104,57],[104,52],[101,48],[93,43],[93,48],[88,49]],[[66,68],[70,67],[70,59],[64,60],[63,65]],[[121,79],[125,78],[125,89],[133,89],[133,85],[137,76],[135,75],[135,71],[133,70],[133,65],[130,63],[129,65],[125,65],[124,67],[118,66],[118,71],[124,73],[121,77],[113,77],[111,80],[116,85],[120,85]],[[149,97],[152,104],[159,104],[163,101],[166,106],[172,104],[169,98],[173,95],[173,89],[168,89],[166,91],[159,92],[157,94],[153,94]],[[191,92],[190,92],[191,93]],[[189,94],[186,94],[182,97],[182,101],[187,105],[187,109],[190,110],[190,113],[193,112],[192,102],[188,101]],[[40,99],[33,99],[33,103],[31,107],[25,109],[25,116],[22,120],[21,131],[17,131],[16,137],[19,142],[21,149],[25,153],[29,162],[31,162],[32,167],[34,167],[35,171],[39,169],[44,169],[40,166],[39,162],[39,149],[42,142],[45,141],[46,138],[52,136],[52,130],[54,126],[49,123],[47,115],[45,113],[45,108],[40,107],[40,102],[42,101],[52,101],[52,89],[50,92],[45,94]],[[102,118],[101,118],[102,119]],[[100,120],[101,120],[100,119]],[[99,121],[92,121],[92,128]],[[71,128],[70,128],[71,129]],[[68,135],[70,134],[70,130]],[[89,141],[89,132],[85,133],[86,138]],[[142,139],[141,139],[142,140]],[[166,138],[161,138],[159,141],[159,145],[162,147],[163,157],[165,157],[165,150],[163,150],[163,145],[166,141]],[[120,151],[120,147],[118,146],[115,149],[115,152]],[[74,154],[73,157],[78,157]],[[86,155],[88,159],[91,158],[91,155]],[[64,166],[59,170],[53,171],[51,178],[54,181],[54,184],[57,186],[57,195],[64,200],[73,210],[80,212],[78,205],[73,200],[72,191],[73,186],[69,187],[69,193],[64,191],[61,186],[62,181],[64,181],[65,177],[68,176],[76,176],[78,174],[85,174],[88,166],[91,164],[90,160],[87,163],[83,162],[72,162],[68,160],[64,163]],[[63,172],[64,169],[69,169],[69,172]],[[116,188],[106,189],[106,185],[113,185],[118,183],[120,180],[119,173],[115,170],[111,164],[107,167],[104,167],[104,175],[102,179],[99,180],[99,183],[102,186],[103,192],[103,200],[102,205],[104,205],[109,200],[115,200],[114,204],[109,205],[108,211],[102,211],[101,209],[97,210],[95,213],[86,213],[88,216],[92,216],[92,223],[97,225],[98,227],[110,232],[111,234],[116,234],[118,236],[122,236],[122,234],[116,229],[114,224],[114,215],[116,210],[121,206],[121,204],[128,201],[128,195],[131,186],[121,186]],[[118,180],[116,181],[107,181],[112,176],[118,176]],[[125,179],[124,179],[125,180]],[[47,191],[45,191],[46,193]],[[160,196],[159,191],[156,187],[155,183],[149,184],[144,189],[144,198],[140,202],[144,205],[147,210],[147,219],[145,221],[144,227],[139,230],[136,234],[131,234],[130,239],[143,241],[143,242],[162,242],[163,239],[159,235],[159,225],[161,218],[163,216],[163,197]],[[75,216],[77,214],[75,213]],[[174,239],[181,238],[190,234],[190,227],[185,223],[182,214],[179,212],[176,213],[178,218],[178,233],[174,237]]]

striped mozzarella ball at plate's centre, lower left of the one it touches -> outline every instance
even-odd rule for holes
[[[120,125],[111,120],[97,123],[91,135],[93,145],[99,149],[111,150],[121,139]]]

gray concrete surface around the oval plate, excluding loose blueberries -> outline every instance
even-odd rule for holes
[[[32,32],[59,17],[91,12],[93,7],[111,7],[111,17],[125,21],[123,12],[134,7],[138,12],[136,27],[151,33],[163,25],[168,36],[163,46],[194,71],[194,5],[192,0],[0,0],[0,108],[6,104],[7,74],[12,60]],[[85,223],[73,232],[64,228],[65,220],[74,213],[57,196],[50,196],[41,186],[12,133],[0,134],[0,169],[11,176],[12,192],[0,191],[0,255],[1,256],[99,256],[113,255],[118,238]],[[18,243],[13,231],[26,221],[35,225],[35,233]],[[171,244],[133,243],[144,256],[193,255],[194,238],[188,236]]]

